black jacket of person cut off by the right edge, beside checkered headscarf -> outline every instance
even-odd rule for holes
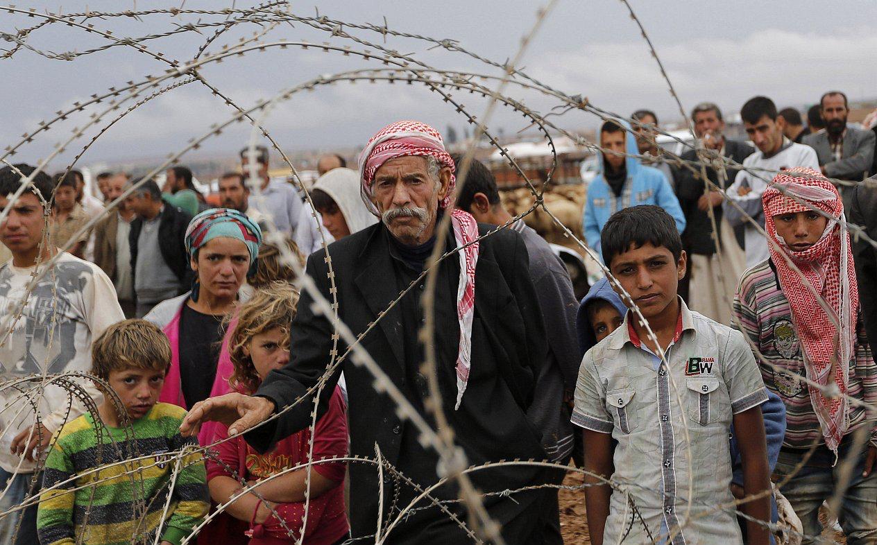
[[[877,183],[877,177],[869,182]],[[877,187],[860,183],[853,190],[849,220],[865,229],[868,237],[877,240]],[[851,233],[852,258],[856,262],[856,277],[859,280],[859,301],[865,330],[872,350],[877,343],[877,249],[864,238],[856,240]]]

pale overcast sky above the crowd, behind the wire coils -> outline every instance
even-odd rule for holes
[[[139,10],[179,6],[172,3],[136,3]],[[26,7],[64,12],[83,11],[84,3],[58,4],[31,2]],[[238,8],[255,3],[241,2]],[[852,100],[877,97],[877,3],[850,1],[825,4],[799,1],[764,3],[736,2],[645,2],[631,0],[645,25],[667,72],[679,92],[686,110],[695,103],[710,100],[729,115],[751,96],[771,96],[779,107],[814,103],[829,88],[844,90]],[[219,2],[185,2],[186,9],[217,9]],[[294,4],[300,15],[313,15],[314,4]],[[522,35],[531,27],[536,3],[531,0],[449,0],[428,4],[390,0],[331,1],[320,3],[319,11],[350,23],[382,24],[398,31],[424,34],[438,39],[456,39],[460,45],[483,57],[500,62],[517,50]],[[121,11],[132,2],[89,1],[92,11]],[[203,16],[203,21],[222,18]],[[0,32],[17,32],[36,25],[40,18],[3,14]],[[92,20],[114,36],[143,36],[165,32],[198,20],[196,16],[173,18],[148,16]],[[869,24],[872,25],[869,27]],[[240,25],[218,39],[208,51],[252,34],[258,27]],[[153,51],[169,58],[190,59],[213,29],[203,34],[188,32],[171,38],[146,42]],[[350,32],[353,32],[352,30]],[[358,32],[364,39],[381,42],[373,32]],[[281,25],[264,41],[331,39],[303,25]],[[105,39],[61,25],[46,25],[33,32],[27,42],[39,50],[63,53],[103,46]],[[351,42],[334,43],[360,47]],[[10,42],[0,44],[4,49]],[[413,53],[433,66],[473,70],[501,75],[459,53],[428,51],[424,42],[387,39],[387,46]],[[652,60],[637,25],[617,0],[560,0],[549,14],[536,39],[524,56],[525,70],[541,81],[567,94],[588,96],[591,103],[606,110],[629,115],[638,108],[650,108],[667,120],[679,117],[660,71]],[[69,107],[93,93],[105,92],[128,80],[146,74],[161,74],[168,65],[134,51],[113,47],[75,61],[48,60],[27,50],[11,59],[0,60],[4,74],[3,100],[0,101],[0,146],[18,141],[25,131],[34,131],[42,119]],[[378,63],[341,57],[337,53],[300,49],[271,49],[225,60],[203,67],[203,75],[217,88],[247,106],[258,98],[274,96],[278,90],[308,81],[319,74],[343,70],[380,67]],[[508,88],[508,94],[537,110],[554,103],[532,93]],[[486,103],[467,94],[455,93],[472,113],[481,117]],[[94,111],[94,110],[92,110]],[[595,117],[578,112],[559,123],[571,129],[594,127]],[[209,131],[210,124],[223,122],[233,111],[210,95],[199,83],[169,91],[112,126],[85,153],[81,164],[101,160],[158,158],[178,150],[189,138]],[[339,83],[294,96],[267,119],[267,127],[284,148],[330,149],[355,147],[382,125],[401,118],[416,117],[446,131],[452,125],[460,132],[464,122],[453,108],[417,86],[386,83]],[[109,121],[111,117],[107,117]],[[72,119],[59,129],[48,131],[25,145],[17,160],[35,162],[51,152],[53,145],[68,138],[70,130],[82,124]],[[498,110],[492,127],[506,135],[524,126],[521,117]],[[248,130],[237,125],[218,138],[208,140],[196,157],[234,152],[246,141]],[[89,134],[90,137],[90,134]],[[71,145],[52,165],[72,159],[88,140]]]

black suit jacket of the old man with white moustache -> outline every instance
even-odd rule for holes
[[[479,225],[481,235],[488,230],[489,226]],[[329,246],[338,290],[339,318],[354,335],[365,332],[378,314],[389,308],[399,295],[389,237],[389,231],[382,223],[377,223]],[[446,244],[453,244],[450,230],[446,237]],[[516,232],[501,230],[481,240],[475,273],[472,369],[460,409],[456,411],[454,365],[460,329],[455,300],[459,260],[453,254],[439,265],[435,316],[437,376],[454,442],[465,452],[467,464],[514,458],[545,459],[540,434],[524,415],[533,398],[534,378],[544,365],[547,354],[545,329],[528,264],[524,241]],[[320,292],[332,301],[324,252],[310,255],[307,273]],[[410,290],[410,295],[417,301],[423,293],[423,284],[421,280]],[[298,314],[292,323],[289,365],[271,372],[257,393],[274,400],[278,410],[292,406],[298,400],[279,419],[246,434],[246,441],[260,451],[270,449],[283,437],[310,426],[313,398],[304,396],[323,375],[333,348],[332,323],[322,315],[314,315],[311,303],[310,295],[303,290],[297,305]],[[416,335],[420,321],[413,324],[403,322],[403,315],[410,315],[405,310],[404,299],[383,315],[360,343],[393,385],[434,428],[431,416],[419,408],[423,407],[427,392],[424,377],[405,364],[410,360],[405,354],[406,346]],[[339,355],[345,351],[345,343],[339,342]],[[375,389],[374,377],[364,367],[353,365],[350,357],[346,357],[328,380],[320,398],[318,414],[325,410],[341,367],[349,397],[351,454],[374,459],[375,449],[380,449],[381,457],[407,478],[424,487],[436,483],[439,480],[436,474],[439,459],[435,451],[419,445],[413,425],[396,414],[396,404]],[[374,534],[380,493],[378,471],[374,464],[367,463],[348,464],[348,467],[353,536]],[[386,517],[392,511],[394,501],[396,509],[401,509],[415,494],[410,486],[403,486],[399,498],[394,500],[392,491],[396,479],[388,476],[386,471],[384,476],[382,513]],[[520,465],[475,471],[471,477],[475,487],[482,492],[499,492],[544,483],[547,473],[536,467]],[[537,539],[540,535],[537,526],[539,511],[544,510],[545,492],[533,492],[512,494],[511,499],[496,494],[484,497],[488,512],[503,527],[507,543],[541,542]],[[454,499],[456,491],[455,487],[446,485],[431,494],[442,500]],[[422,507],[424,503],[417,506]],[[459,503],[452,502],[448,508],[457,513],[460,520],[466,520],[466,512]],[[395,535],[395,539],[389,542],[429,545],[469,542],[460,532],[446,513],[428,507],[413,514],[402,527],[397,527],[390,534]]]

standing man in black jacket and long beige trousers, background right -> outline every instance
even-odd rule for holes
[[[737,140],[724,138],[724,118],[722,110],[714,103],[700,103],[691,112],[695,124],[695,136],[703,141],[708,153],[730,159],[742,164],[755,149],[751,145]],[[682,154],[682,159],[699,160],[695,150]],[[686,301],[688,307],[706,315],[717,322],[731,323],[731,306],[737,280],[743,273],[745,256],[733,229],[723,220],[722,203],[724,197],[718,188],[731,186],[737,176],[737,168],[725,168],[724,179],[713,166],[706,166],[709,181],[715,184],[706,192],[706,183],[701,178],[700,166],[695,166],[697,173],[683,167],[680,169],[676,184],[676,196],[685,214],[686,228],[682,233],[682,244],[688,253],[688,290]],[[713,210],[716,225],[719,228],[719,240],[722,246],[723,263],[718,263],[716,242],[713,237],[712,221],[709,209]],[[724,265],[724,266],[722,266]],[[719,271],[724,274],[724,286],[718,279]],[[726,288],[725,288],[726,287]],[[728,298],[724,298],[726,294]]]

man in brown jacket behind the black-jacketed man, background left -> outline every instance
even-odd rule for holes
[[[125,190],[125,175],[110,176],[105,182],[107,203],[118,199]],[[134,211],[126,202],[119,202],[116,209],[95,226],[95,265],[112,280],[116,288],[118,304],[125,318],[135,315],[134,276],[131,268],[131,244],[129,235]]]

